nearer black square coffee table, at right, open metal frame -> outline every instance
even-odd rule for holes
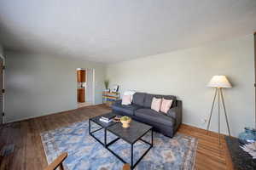
[[[143,157],[148,153],[148,151],[153,147],[153,130],[152,127],[149,125],[146,125],[142,122],[137,122],[132,120],[130,123],[130,127],[124,128],[122,127],[122,123],[118,122],[116,124],[113,124],[110,127],[107,127],[107,130],[116,136],[119,137],[119,139],[125,140],[128,144],[131,144],[131,169],[137,166],[137,164],[143,159]],[[148,141],[142,139],[143,136],[151,131],[151,143]],[[141,156],[135,163],[133,163],[133,144],[135,144],[138,140],[143,141],[144,143],[148,144],[148,150],[146,150],[143,153],[143,156]],[[114,142],[113,142],[114,143]],[[111,144],[113,144],[111,143]],[[119,158],[120,161],[123,161],[124,163],[127,163],[124,159],[122,159],[120,156],[118,156],[116,153],[114,153],[112,150],[109,149],[109,145],[107,145],[107,149],[117,158]]]

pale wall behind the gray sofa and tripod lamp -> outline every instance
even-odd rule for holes
[[[243,127],[254,126],[253,35],[224,42],[212,42],[199,48],[178,50],[108,65],[111,84],[153,94],[174,94],[183,100],[183,123],[205,128],[202,119],[209,116],[213,89],[207,82],[214,75],[226,75],[233,88],[224,89],[224,99],[232,135]],[[217,110],[215,110],[217,111]],[[218,130],[217,112],[211,130]],[[224,116],[222,132],[227,133]]]

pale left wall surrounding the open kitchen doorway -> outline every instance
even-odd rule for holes
[[[77,108],[77,68],[95,69],[95,101],[102,103],[102,64],[12,51],[5,55],[7,122]]]

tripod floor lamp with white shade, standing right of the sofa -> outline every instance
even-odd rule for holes
[[[215,104],[215,99],[216,99],[216,96],[217,96],[218,97],[218,144],[220,144],[220,102],[223,105],[224,116],[225,116],[225,119],[226,119],[228,131],[229,131],[229,135],[230,135],[230,125],[229,125],[228,116],[227,116],[227,112],[226,112],[226,108],[225,108],[225,104],[224,104],[224,97],[223,97],[222,88],[232,88],[232,86],[231,86],[230,82],[228,81],[227,77],[225,77],[225,76],[214,76],[214,77],[212,77],[211,81],[208,83],[208,87],[215,88],[215,94],[214,94],[214,97],[213,97],[210,118],[209,118],[209,121],[208,121],[208,124],[207,124],[207,133],[209,132],[210,122],[211,122],[211,119],[212,119],[212,111],[213,111],[213,107],[214,107],[214,104]]]

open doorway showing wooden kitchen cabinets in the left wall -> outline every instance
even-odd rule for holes
[[[95,69],[77,69],[78,107],[95,104]]]

